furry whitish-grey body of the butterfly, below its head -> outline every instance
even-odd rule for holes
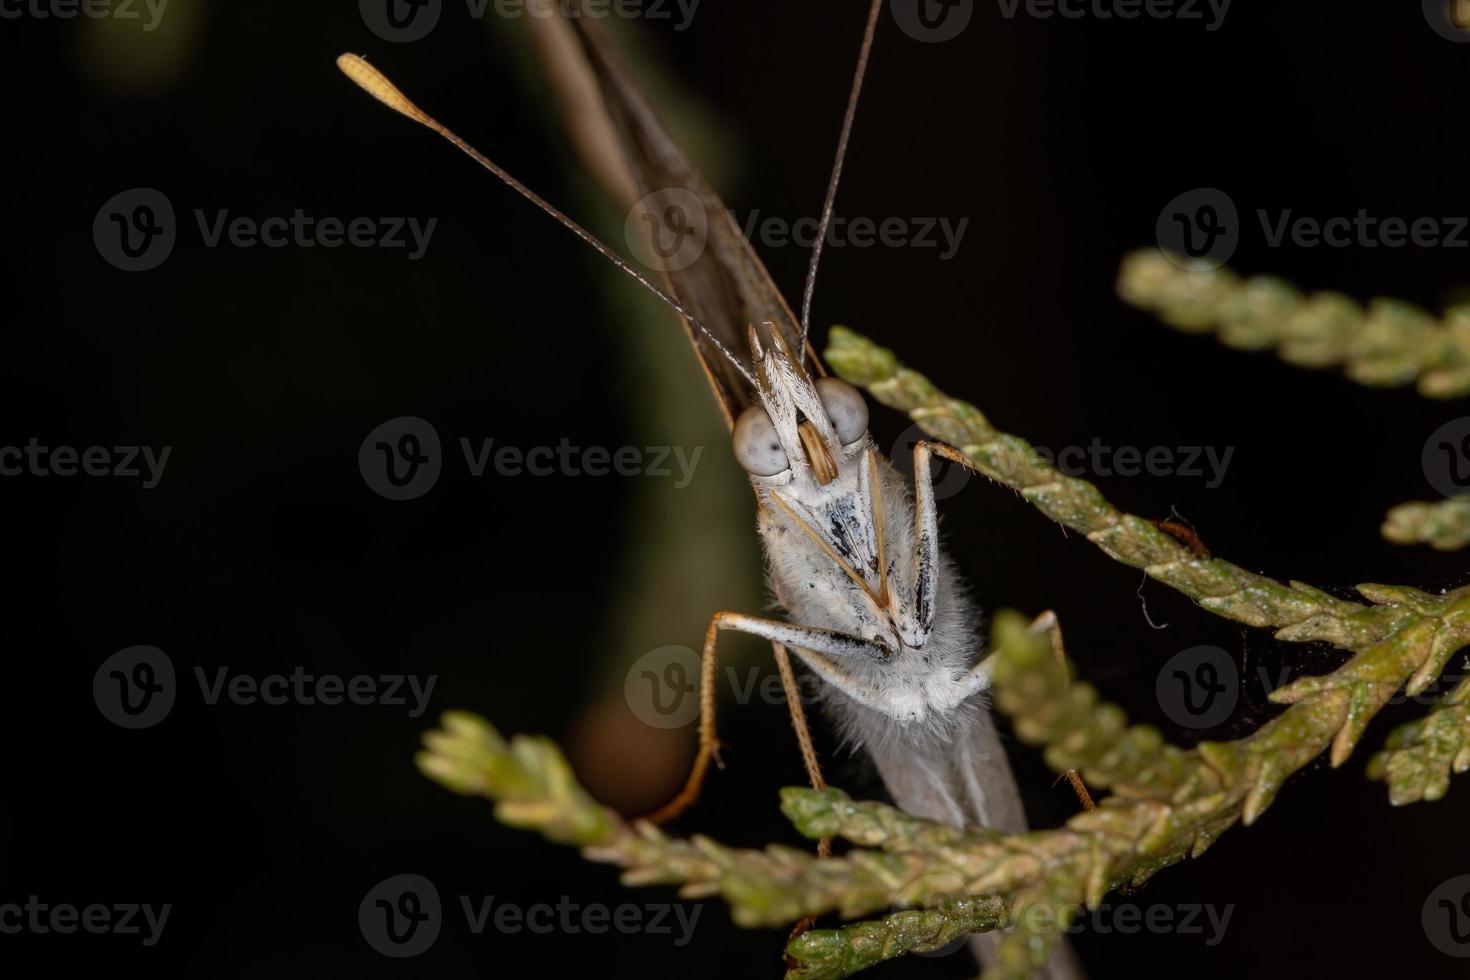
[[[760,486],[760,538],[776,599],[792,623],[838,633],[882,635],[888,658],[844,658],[833,664],[795,648],[825,682],[823,704],[844,741],[872,755],[900,807],[950,824],[983,824],[1017,833],[1026,829],[1016,782],[983,704],[988,685],[980,655],[979,610],[964,595],[958,576],[938,551],[938,588],[928,636],[917,619],[916,507],[903,476],[864,438],[844,455],[873,453],[882,520],[873,520],[869,467],[841,466],[836,480],[817,492],[798,485]],[[847,463],[848,460],[842,460]],[[864,479],[867,478],[867,479]],[[861,569],[870,588],[881,588],[875,533],[886,535],[889,610],[839,572],[828,551],[794,526],[779,494],[838,555]]]

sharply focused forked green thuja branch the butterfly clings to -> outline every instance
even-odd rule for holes
[[[789,980],[847,977],[904,952],[945,946],[972,932],[1007,930],[986,980],[1022,980],[1082,908],[1200,857],[1236,823],[1250,824],[1288,776],[1327,752],[1341,765],[1398,691],[1421,693],[1470,645],[1470,586],[1442,595],[1361,585],[1363,602],[1301,582],[1279,582],[1197,554],[1154,522],[1113,507],[1026,441],[997,430],[973,406],[947,397],[892,353],[835,328],[828,361],[929,435],[960,448],[985,476],[1082,533],[1114,560],[1142,569],[1201,607],[1283,641],[1329,642],[1345,663],[1272,693],[1285,711],[1232,742],[1177,748],[1129,726],[1028,632],[1016,613],[995,617],[995,704],[1054,768],[1080,770],[1107,796],[1055,830],[1004,836],[910,817],[836,789],[781,792],[781,808],[811,839],[847,842],[832,857],[785,846],[732,848],[679,839],[598,805],[548,739],[503,739],[490,723],[451,713],[425,738],[420,768],[444,786],[495,804],[514,827],[616,864],[623,882],[672,884],[688,898],[722,898],[741,926],[784,926],[836,914],[838,929],[788,943]],[[1470,682],[1420,721],[1396,730],[1370,763],[1394,802],[1436,799],[1470,768]]]

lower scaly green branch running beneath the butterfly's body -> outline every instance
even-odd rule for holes
[[[1166,745],[1154,729],[1127,726],[1089,685],[1069,682],[1070,671],[1044,636],[1028,630],[1025,617],[997,614],[992,641],[995,702],[1014,718],[1020,738],[1045,746],[1053,767],[1078,767],[1111,790],[1097,810],[1061,829],[1014,836],[960,830],[853,801],[838,789],[788,788],[782,811],[798,832],[856,849],[817,858],[794,848],[679,840],[597,805],[550,741],[507,743],[487,721],[462,713],[447,714],[444,730],[425,736],[419,765],[456,792],[494,801],[500,820],[622,867],[628,884],[719,895],[741,926],[828,912],[848,920],[882,915],[791,940],[786,952],[797,965],[788,980],[847,977],[904,952],[1005,927],[986,980],[1025,980],[1083,907],[1201,855],[1238,820],[1254,820],[1286,776],[1341,732],[1338,710],[1358,688],[1355,679],[1372,676],[1352,661],[1338,674],[1311,679],[1314,686],[1299,682],[1292,707],[1254,735],[1186,751]],[[1461,686],[1454,695],[1461,714],[1442,716],[1458,718],[1461,735],[1464,693]],[[1404,741],[1402,749],[1414,752],[1429,741]]]

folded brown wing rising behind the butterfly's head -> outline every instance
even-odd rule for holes
[[[587,16],[528,21],[537,25],[538,51],[567,110],[573,141],[617,204],[629,210],[648,194],[681,188],[703,206],[707,234],[698,259],[681,269],[660,269],[670,292],[747,367],[745,326],[750,323],[763,335],[767,331],[761,325],[775,325],[797,350],[801,328],[791,307],[729,209],[684,156],[622,68],[601,28]],[[751,403],[753,392],[739,372],[686,320],[685,329],[729,422]]]

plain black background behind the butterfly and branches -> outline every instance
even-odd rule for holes
[[[629,25],[681,98],[703,106],[685,115],[713,137],[703,159],[738,213],[817,207],[863,6],[704,0],[686,31]],[[444,792],[410,758],[451,707],[506,732],[587,741],[587,707],[616,695],[620,664],[642,652],[612,641],[610,623],[628,555],[660,560],[628,523],[645,483],[470,479],[447,464],[431,494],[392,502],[356,463],[363,436],[395,416],[431,419],[447,444],[469,433],[641,445],[626,336],[682,344],[666,316],[610,313],[609,295],[626,304],[632,285],[332,65],[363,51],[512,172],[616,235],[620,216],[597,215],[573,176],[514,31],[447,3],[428,38],[390,44],[347,0],[173,0],[151,35],[90,21],[0,22],[0,445],[37,436],[173,447],[150,491],[126,479],[0,479],[10,573],[0,901],[173,904],[147,949],[123,936],[0,936],[16,976],[781,968],[784,933],[741,933],[716,904],[684,948],[654,934],[472,936],[451,918],[429,952],[392,961],[357,929],[362,896],[400,873],[432,879],[451,915],[462,893],[520,905],[669,898],[625,890],[609,868],[498,826],[484,802]],[[1177,508],[1248,569],[1323,586],[1458,585],[1463,555],[1377,533],[1388,507],[1432,495],[1420,447],[1457,404],[1173,332],[1122,304],[1113,282],[1120,257],[1152,242],[1164,203],[1195,187],[1227,191],[1244,216],[1464,215],[1467,57],[1470,46],[1430,31],[1419,4],[1239,0],[1208,32],[1179,21],[1004,19],[978,3],[969,29],[942,44],[917,43],[885,16],[839,210],[970,226],[951,262],[932,250],[831,250],[816,322],[894,347],[1041,445],[1097,436],[1235,447],[1216,489],[1188,478],[1098,483],[1133,513]],[[125,273],[98,256],[91,228],[104,201],[134,187],[169,197],[179,242],[159,269]],[[204,248],[191,216],[297,207],[440,220],[426,256],[409,262],[403,250]],[[797,295],[807,254],[763,254]],[[1270,248],[1248,219],[1232,266],[1439,310],[1467,284],[1466,259],[1463,248]],[[660,425],[707,433],[713,417],[707,400],[694,400]],[[875,410],[883,445],[904,428]],[[731,485],[742,492],[738,473],[713,458],[722,451],[707,445],[688,501]],[[741,501],[742,535],[751,510]],[[1213,642],[1272,670],[1339,663],[1332,651],[1272,644],[1157,585],[1144,586],[1148,610],[1170,627],[1151,629],[1136,573],[1008,492],[973,482],[945,514],[954,554],[988,604],[1055,608],[1080,673],[1177,741],[1198,733],[1164,716],[1154,677],[1186,646]],[[704,561],[729,566],[739,594],[682,610],[657,644],[697,645],[709,613],[756,595],[751,552]],[[134,644],[166,651],[188,682],[165,721],[126,732],[90,691],[98,664]],[[209,707],[191,688],[196,666],[438,682],[419,718],[391,707]],[[1255,688],[1210,735],[1269,717]],[[1223,943],[1088,934],[1078,946],[1092,976],[1460,976],[1426,940],[1420,907],[1470,871],[1470,789],[1457,783],[1444,802],[1395,810],[1363,776],[1367,755],[1413,713],[1385,713],[1342,771],[1310,768],[1255,827],[1232,830],[1135,898],[1233,904]],[[723,736],[731,765],[681,829],[741,845],[795,842],[775,808],[776,788],[801,782],[782,708],[728,707]],[[1038,823],[1064,820],[1064,790],[1030,752],[1014,755]],[[835,761],[832,777],[881,792],[851,763]],[[875,976],[967,970],[951,956]]]

